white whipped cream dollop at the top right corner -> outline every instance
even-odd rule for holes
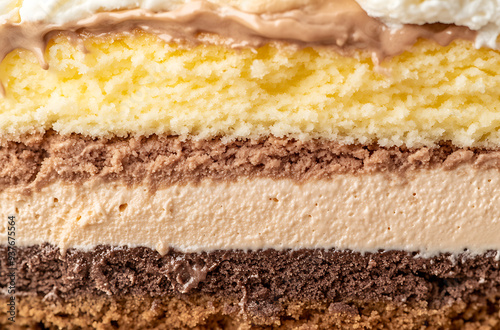
[[[394,28],[401,24],[445,23],[479,31],[476,47],[498,48],[500,0],[357,0],[368,15]]]

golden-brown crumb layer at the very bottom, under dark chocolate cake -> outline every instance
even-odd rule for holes
[[[496,330],[500,299],[425,304],[350,302],[286,305],[280,316],[255,317],[241,304],[210,297],[79,297],[68,300],[20,297],[15,326],[0,299],[0,326],[9,329],[466,329]]]

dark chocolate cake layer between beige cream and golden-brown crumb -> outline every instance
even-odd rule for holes
[[[266,315],[287,301],[421,302],[439,308],[500,292],[496,253],[430,259],[389,251],[216,251],[161,256],[148,248],[99,246],[61,255],[50,245],[17,250],[18,294],[47,298],[79,295],[159,297],[208,294],[240,300]],[[0,247],[0,288],[5,289],[7,247]],[[337,306],[337,305],[334,305]]]

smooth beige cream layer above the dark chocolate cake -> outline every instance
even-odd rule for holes
[[[339,175],[301,185],[204,181],[155,193],[117,183],[53,184],[30,196],[2,192],[0,214],[17,215],[18,246],[110,244],[160,253],[168,247],[397,249],[423,255],[500,250],[499,171],[461,167],[391,178]]]

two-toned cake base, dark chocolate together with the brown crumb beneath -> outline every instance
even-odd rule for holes
[[[8,283],[0,248],[1,285]],[[19,248],[16,323],[97,329],[499,329],[495,252],[458,257],[386,251]]]

